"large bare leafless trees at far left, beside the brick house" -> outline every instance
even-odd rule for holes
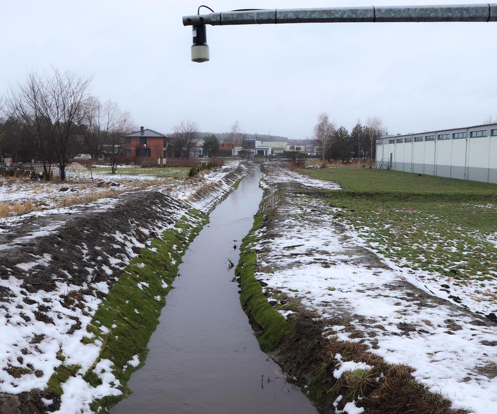
[[[104,155],[115,171],[131,117],[117,103],[91,96],[90,83],[89,77],[53,68],[10,85],[0,105],[0,147],[15,161],[40,161],[46,180],[53,165],[64,179],[74,149]]]

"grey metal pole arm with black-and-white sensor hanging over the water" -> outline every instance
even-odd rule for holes
[[[211,13],[200,14],[200,7]],[[183,25],[193,26],[191,60],[209,60],[205,25],[280,24],[280,23],[338,23],[392,21],[497,21],[497,4],[442,4],[414,6],[324,7],[291,9],[243,9],[215,13],[201,5],[197,14],[183,16]]]

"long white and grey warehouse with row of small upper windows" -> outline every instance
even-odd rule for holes
[[[497,183],[497,123],[382,136],[376,168]]]

